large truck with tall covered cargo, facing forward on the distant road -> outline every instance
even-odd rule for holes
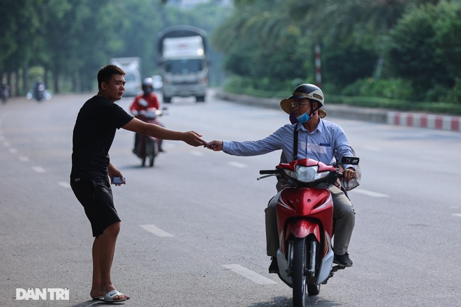
[[[158,35],[163,102],[174,96],[205,101],[208,84],[206,33],[191,26],[168,27]]]

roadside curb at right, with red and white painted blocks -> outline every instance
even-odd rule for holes
[[[244,105],[280,109],[280,98],[258,98],[249,95],[226,93],[221,90],[217,90],[214,96]],[[334,104],[327,104],[325,106],[325,111],[328,112],[328,116],[340,119],[353,119],[372,123],[387,123],[393,126],[461,132],[461,117],[418,112],[396,112],[369,107],[351,107]]]

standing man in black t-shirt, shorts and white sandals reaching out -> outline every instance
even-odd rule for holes
[[[124,128],[163,140],[181,140],[194,147],[207,144],[194,131],[179,132],[145,123],[115,104],[124,93],[124,75],[122,69],[113,65],[99,70],[98,93],[82,106],[73,129],[71,187],[85,209],[95,237],[93,283],[89,294],[93,299],[110,302],[129,299],[128,295],[115,290],[110,278],[120,231],[120,218],[114,207],[110,184],[114,177],[124,178],[109,158],[115,132]]]

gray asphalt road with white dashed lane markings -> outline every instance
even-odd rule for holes
[[[92,94],[0,105],[0,306],[98,306],[89,301],[92,233],[68,186],[73,123]],[[129,107],[132,98],[119,104]],[[328,105],[325,106],[328,111]],[[461,134],[327,117],[361,159],[351,191],[354,266],[322,285],[312,306],[461,306]],[[161,121],[205,140],[256,140],[288,121],[281,110],[209,96],[173,100]],[[279,153],[235,157],[166,141],[140,167],[133,133],[110,151],[122,232],[112,267],[126,306],[288,307],[268,274],[263,210],[275,179],[256,181]],[[67,289],[68,300],[16,300],[17,288]]]

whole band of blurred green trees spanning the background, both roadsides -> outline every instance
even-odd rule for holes
[[[0,18],[0,77],[22,79],[18,93],[41,71],[54,91],[91,90],[110,57],[141,57],[142,75],[152,75],[156,33],[191,24],[210,34],[215,77],[224,54],[232,91],[271,96],[316,82],[320,44],[330,95],[461,103],[459,0],[234,0],[192,10],[166,0],[1,0]]]

